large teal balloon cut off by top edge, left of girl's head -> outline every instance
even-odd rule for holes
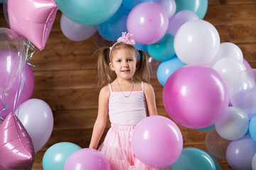
[[[70,20],[82,25],[97,25],[107,21],[121,6],[122,0],[55,0]]]

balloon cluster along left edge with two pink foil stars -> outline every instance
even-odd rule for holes
[[[53,130],[53,113],[46,102],[29,99],[34,77],[28,60],[35,52],[31,42],[39,50],[45,47],[57,4],[52,0],[3,3],[11,29],[0,28],[0,118],[4,120],[0,169],[31,169],[35,153]]]

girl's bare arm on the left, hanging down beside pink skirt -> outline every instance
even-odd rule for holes
[[[100,90],[97,119],[92,130],[92,138],[89,148],[97,149],[97,145],[99,144],[100,138],[106,128],[109,97],[110,89],[108,86],[105,86]]]

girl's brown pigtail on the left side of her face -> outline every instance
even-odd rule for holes
[[[98,86],[105,86],[115,79],[115,74],[113,74],[110,68],[110,48],[102,47],[98,49],[93,56],[98,57],[97,60],[97,75],[98,75]]]

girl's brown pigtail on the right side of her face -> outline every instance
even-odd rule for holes
[[[139,55],[140,55],[140,60],[137,65],[137,71],[134,74],[134,78],[135,80],[149,83],[150,67],[149,67],[148,57],[146,57],[146,53],[142,50],[139,50]]]

